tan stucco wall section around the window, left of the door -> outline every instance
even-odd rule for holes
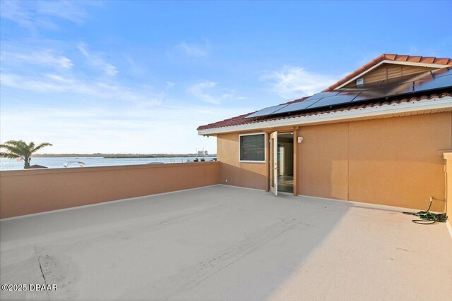
[[[217,136],[217,159],[220,161],[220,183],[266,189],[266,164],[239,162],[238,133]]]

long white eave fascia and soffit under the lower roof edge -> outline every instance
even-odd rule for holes
[[[311,125],[319,123],[335,123],[340,121],[355,121],[377,116],[398,116],[399,113],[432,111],[439,109],[452,110],[452,97],[432,97],[428,100],[416,100],[402,104],[382,104],[348,111],[335,111],[331,113],[319,113],[309,116],[282,118],[273,121],[261,121],[243,125],[232,125],[223,128],[208,128],[198,130],[198,135],[215,135],[221,133],[242,132],[247,130],[263,130],[265,128],[277,128],[284,126]]]

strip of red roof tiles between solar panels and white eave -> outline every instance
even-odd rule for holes
[[[321,115],[321,114],[326,114],[326,113],[334,113],[334,112],[338,112],[338,111],[352,111],[352,110],[359,110],[359,109],[384,106],[384,105],[403,104],[403,103],[408,103],[408,102],[421,102],[421,101],[430,100],[430,99],[434,99],[434,98],[443,98],[443,97],[451,97],[451,96],[452,96],[451,92],[444,92],[441,94],[429,94],[429,95],[422,95],[422,96],[418,96],[418,97],[403,97],[400,99],[393,99],[393,100],[389,100],[389,101],[385,101],[385,102],[376,101],[376,102],[367,102],[364,104],[351,104],[349,106],[338,107],[335,109],[326,108],[326,109],[319,109],[316,111],[294,113],[289,116],[285,115],[285,116],[276,116],[276,117],[272,117],[272,118],[245,118],[244,119],[245,116],[255,113],[255,112],[250,112],[250,113],[246,113],[246,114],[243,114],[240,116],[225,119],[223,121],[209,123],[207,125],[201,125],[197,128],[197,130],[207,130],[207,129],[212,129],[212,128],[224,128],[227,126],[244,125],[244,124],[249,124],[249,123],[262,123],[262,122],[266,122],[266,121],[275,121],[275,120],[280,120],[280,119],[296,118],[296,117],[302,117],[302,116]],[[302,102],[304,99],[307,99],[307,98],[308,97],[303,97],[300,99],[296,99],[292,102],[287,102],[286,104],[292,104],[294,102]]]

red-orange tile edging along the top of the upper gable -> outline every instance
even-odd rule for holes
[[[355,78],[355,76],[369,70],[375,65],[381,63],[381,61],[400,61],[400,62],[410,62],[410,63],[436,63],[439,65],[448,65],[452,66],[452,59],[448,58],[436,58],[434,56],[407,56],[403,54],[381,54],[381,56],[376,57],[375,59],[369,61],[369,63],[365,64],[361,68],[357,68],[357,70],[353,71],[349,75],[345,76],[345,78],[338,80],[330,87],[326,88],[322,92],[334,90],[336,87],[343,85],[343,83]]]

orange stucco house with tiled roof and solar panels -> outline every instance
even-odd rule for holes
[[[198,134],[217,137],[222,184],[413,209],[432,196],[444,211],[452,59],[382,54],[318,94]]]

